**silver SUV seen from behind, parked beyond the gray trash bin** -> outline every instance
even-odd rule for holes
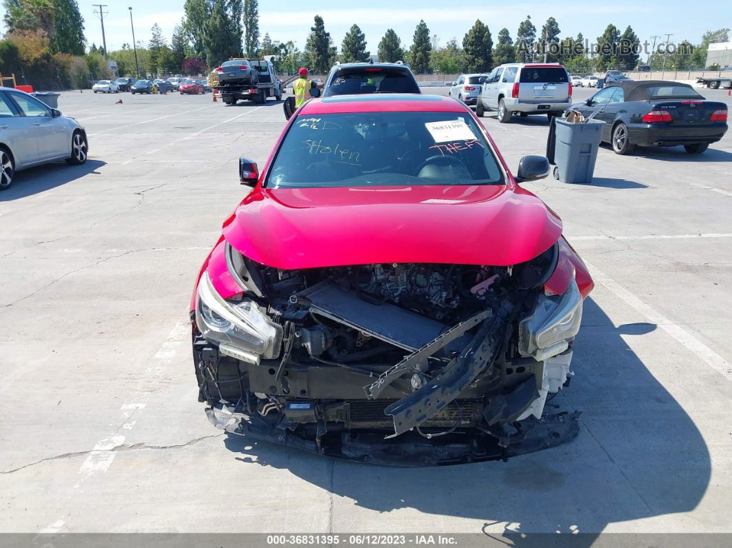
[[[483,116],[486,110],[497,110],[498,121],[505,124],[513,113],[561,116],[571,102],[572,84],[561,64],[510,63],[485,78],[475,111]]]

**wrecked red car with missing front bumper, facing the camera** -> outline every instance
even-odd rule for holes
[[[358,462],[503,459],[578,435],[586,266],[462,103],[305,103],[223,224],[190,304],[214,426]]]

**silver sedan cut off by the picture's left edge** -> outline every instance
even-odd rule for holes
[[[59,159],[81,165],[87,154],[78,121],[23,91],[0,87],[0,190],[10,187],[19,170]]]

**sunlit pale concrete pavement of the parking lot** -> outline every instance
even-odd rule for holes
[[[554,400],[583,412],[580,435],[400,469],[228,438],[196,401],[195,274],[245,194],[237,158],[264,164],[281,103],[86,92],[59,108],[89,161],[0,193],[1,532],[732,531],[729,133],[701,156],[603,146],[592,184],[524,185],[597,283]],[[545,152],[543,116],[483,123],[512,168]]]

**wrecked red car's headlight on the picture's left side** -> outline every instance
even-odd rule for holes
[[[226,301],[214,289],[209,273],[198,283],[195,323],[206,339],[232,345],[265,359],[280,353],[283,328],[269,320],[254,301]]]

